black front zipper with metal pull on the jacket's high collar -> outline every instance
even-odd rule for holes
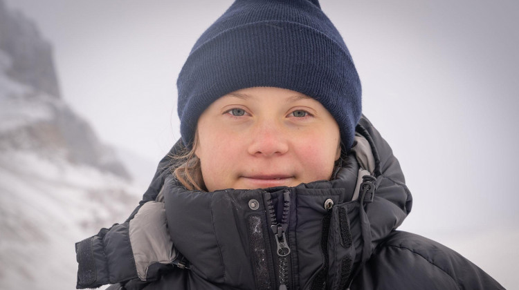
[[[289,287],[289,254],[290,247],[286,240],[286,229],[289,227],[290,214],[290,191],[283,193],[283,214],[281,222],[277,222],[274,204],[271,199],[271,194],[266,193],[266,202],[268,207],[268,214],[271,218],[271,230],[274,233],[274,240],[277,245],[276,254],[279,266],[278,280],[280,282],[280,290],[286,290]]]

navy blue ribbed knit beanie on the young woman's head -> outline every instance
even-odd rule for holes
[[[242,88],[286,88],[320,101],[347,150],[361,117],[361,81],[318,0],[236,0],[194,44],[176,85],[188,148],[203,111]]]

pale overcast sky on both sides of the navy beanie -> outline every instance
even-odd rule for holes
[[[489,262],[500,282],[519,282],[499,273],[515,262],[492,254],[519,242],[519,1],[320,2],[358,68],[364,113],[415,198],[403,229],[451,247],[485,233],[489,253],[469,258]],[[100,138],[156,163],[180,136],[179,70],[232,1],[6,3],[53,43],[62,96]]]

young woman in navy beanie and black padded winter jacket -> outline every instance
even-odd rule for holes
[[[182,139],[125,223],[76,244],[78,288],[502,289],[396,231],[410,192],[317,0],[236,0],[177,86]]]

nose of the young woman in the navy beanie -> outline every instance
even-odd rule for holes
[[[275,122],[262,122],[251,131],[248,153],[257,157],[283,155],[289,150],[288,136]]]

